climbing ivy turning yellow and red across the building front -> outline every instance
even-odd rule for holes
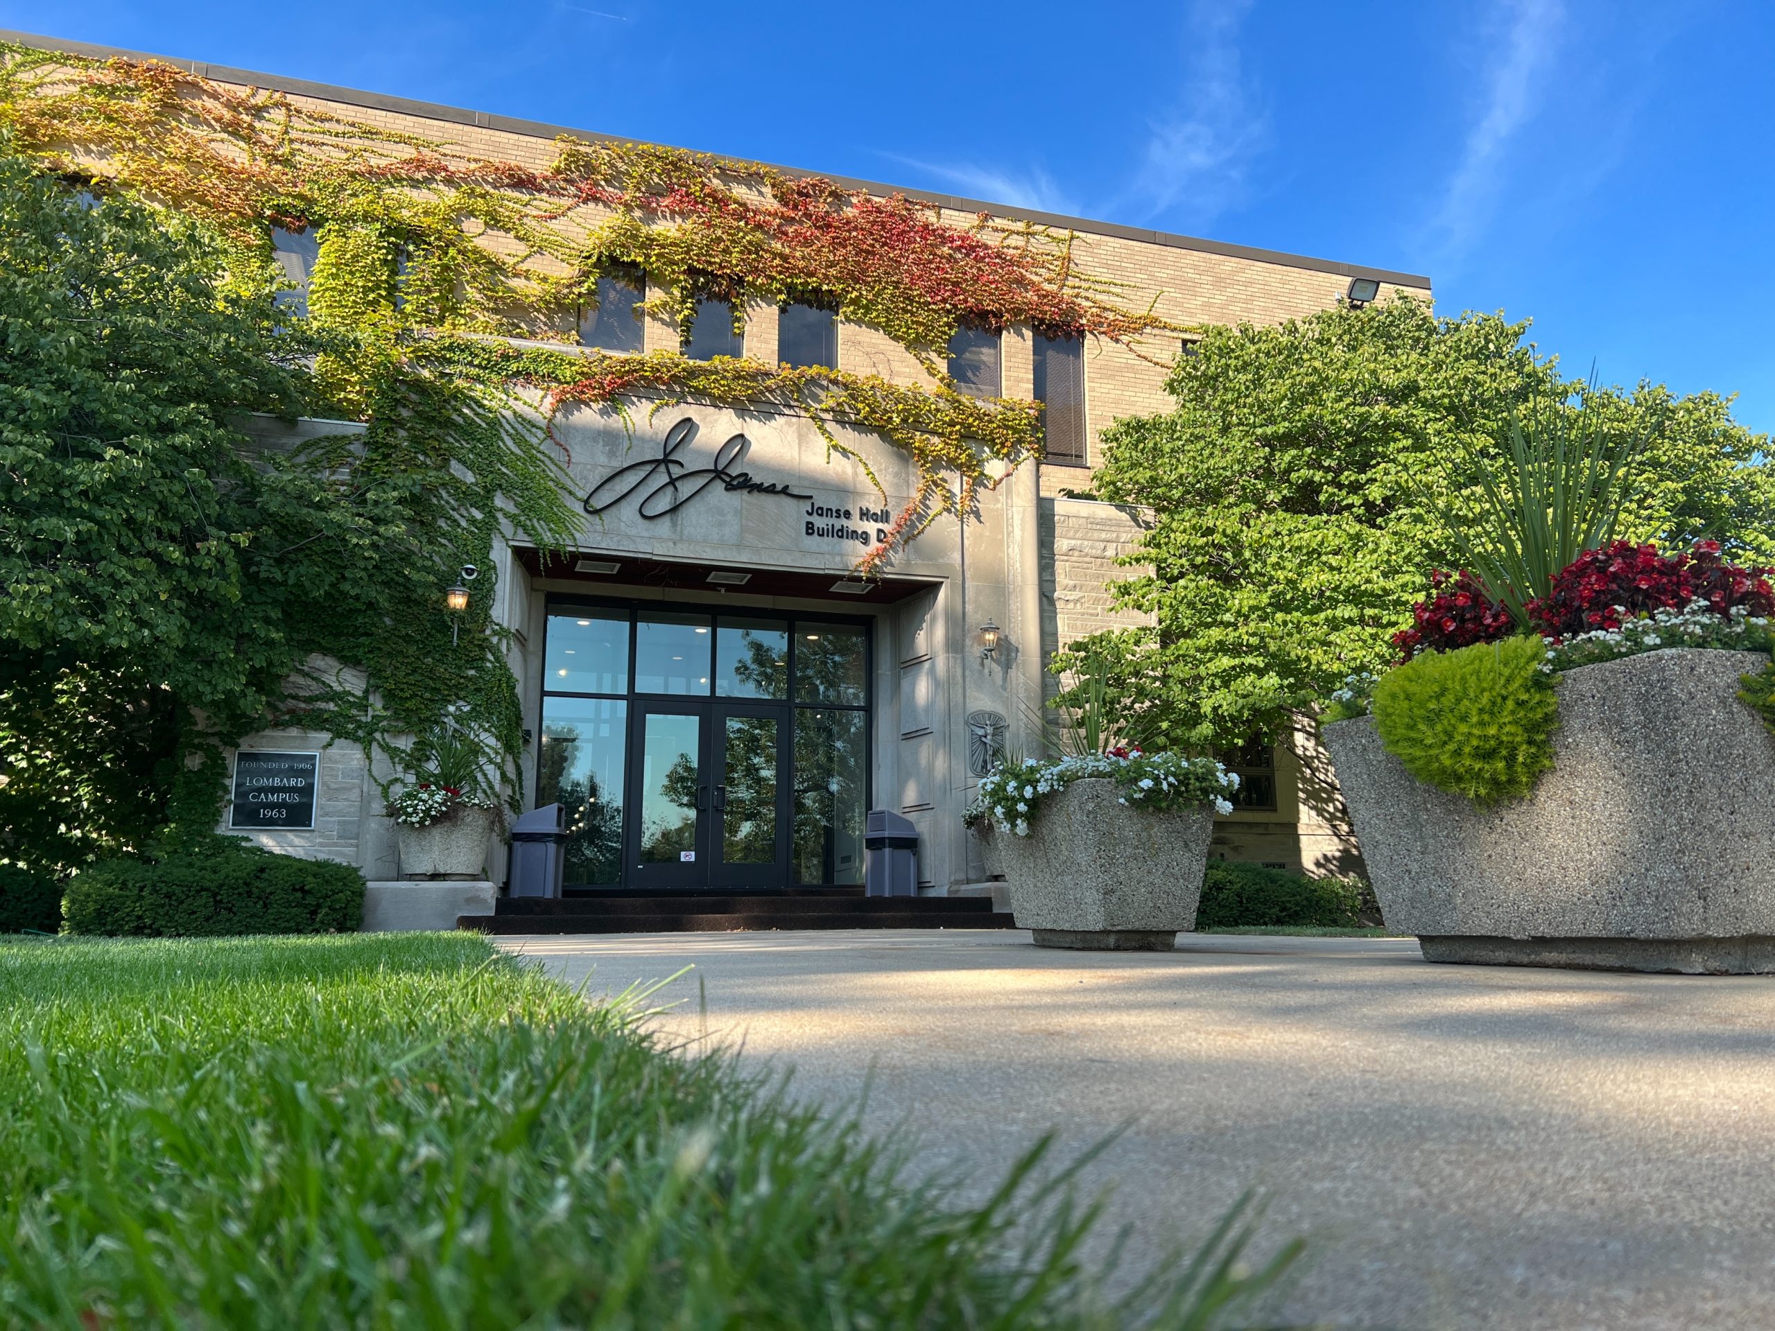
[[[307,410],[366,429],[311,445],[300,463],[328,477],[335,499],[383,506],[346,527],[385,522],[410,534],[430,524],[433,534],[408,536],[412,595],[362,587],[316,600],[314,632],[298,639],[325,646],[327,664],[298,667],[257,721],[300,713],[369,751],[467,703],[517,761],[492,580],[474,584],[465,625],[483,632],[454,644],[435,595],[456,563],[490,563],[506,534],[541,548],[573,541],[564,451],[550,431],[561,410],[605,406],[632,421],[643,403],[765,401],[809,417],[840,453],[857,456],[834,426],[886,437],[912,458],[918,483],[893,539],[864,557],[861,571],[875,573],[935,516],[969,513],[982,488],[1038,453],[1035,403],[973,398],[948,380],[943,350],[960,325],[1024,323],[1136,351],[1145,334],[1172,328],[1086,277],[1069,232],[989,215],[957,224],[905,197],[644,144],[563,138],[534,161],[495,160],[158,62],[0,43],[0,135],[39,172],[201,227],[227,257],[224,284],[240,291],[279,272],[273,227],[318,238],[302,319]],[[749,302],[822,302],[903,346],[927,380],[584,351],[573,346],[579,318],[612,264],[646,270],[643,312],[685,328],[705,295],[731,298],[738,319]],[[334,573],[350,589],[350,532],[328,539],[344,552]]]

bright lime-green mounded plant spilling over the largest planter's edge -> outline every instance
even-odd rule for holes
[[[1553,767],[1558,697],[1539,637],[1427,651],[1381,676],[1381,744],[1418,781],[1482,804],[1526,795]]]

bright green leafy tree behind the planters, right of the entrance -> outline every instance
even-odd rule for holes
[[[1207,328],[1166,383],[1175,410],[1118,421],[1095,477],[1100,499],[1152,509],[1138,554],[1152,571],[1116,591],[1156,626],[1093,635],[1060,664],[1099,660],[1166,742],[1228,749],[1386,666],[1431,570],[1459,563],[1438,508],[1468,500],[1512,417],[1582,387],[1526,332],[1408,296]],[[1775,559],[1768,438],[1731,399],[1642,383],[1598,389],[1585,410],[1645,435],[1622,536],[1713,534]]]

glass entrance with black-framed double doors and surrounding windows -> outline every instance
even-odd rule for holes
[[[566,886],[863,882],[864,621],[550,602],[536,800]]]

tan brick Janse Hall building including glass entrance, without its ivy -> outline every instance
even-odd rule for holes
[[[0,37],[89,59],[163,59]],[[293,105],[350,117],[390,138],[446,140],[534,169],[556,160],[563,137],[600,142],[552,124],[201,62],[167,64],[225,87],[277,91]],[[1365,284],[1361,295],[1370,298],[1390,287],[1429,289],[1409,273],[836,183],[923,201],[957,225],[990,211],[1070,232],[1081,273],[1118,284],[1129,307],[1152,303],[1180,327],[1303,316],[1351,293],[1353,282]],[[598,220],[600,209],[586,206],[573,224]],[[277,245],[288,272],[304,279],[316,243],[280,234]],[[735,332],[733,312],[710,302],[692,328],[680,328],[657,309],[628,318],[644,298],[667,303],[653,300],[660,293],[646,273],[609,280],[596,312],[577,328],[538,327],[536,337],[643,353],[738,355],[769,366],[829,364],[900,383],[930,380],[893,337],[829,311],[744,300],[744,332]],[[511,666],[532,736],[525,804],[575,806],[582,845],[570,855],[570,886],[854,884],[863,868],[861,818],[872,807],[912,820],[923,891],[978,886],[985,871],[960,815],[983,758],[992,745],[1033,749],[1038,736],[1030,715],[1051,687],[1044,671],[1051,653],[1124,621],[1109,607],[1108,582],[1136,547],[1143,515],[1067,492],[1088,492],[1099,437],[1116,417],[1168,410],[1164,366],[1186,341],[1187,334],[1156,334],[1140,348],[1092,339],[1058,344],[1019,323],[1001,334],[958,334],[948,348],[955,382],[983,396],[1047,403],[1047,458],[1005,477],[966,522],[948,518],[916,538],[875,582],[850,577],[859,550],[880,539],[888,513],[916,488],[907,460],[884,438],[850,431],[845,442],[856,458],[845,458],[806,419],[777,410],[685,403],[655,421],[637,412],[632,437],[612,408],[566,413],[556,429],[573,458],[573,502],[588,513],[575,557],[550,564],[508,543],[497,566],[479,573],[495,580],[497,616],[513,630]],[[742,444],[731,444],[737,438]],[[660,477],[671,476],[662,458],[719,470],[722,447],[744,458],[746,474],[761,488],[717,477],[721,484],[689,499],[674,488],[659,497],[669,488]],[[353,861],[369,878],[399,877],[396,838],[367,763],[350,745],[325,747],[323,738],[282,731],[243,745],[321,752],[314,827],[256,836],[282,850]],[[746,816],[756,825],[726,829],[730,852],[751,838],[756,854],[749,861],[721,854],[717,825],[722,816],[731,822],[721,806],[731,797],[742,740],[763,745],[769,783],[781,786],[774,813],[753,809]],[[714,804],[664,807],[657,786],[674,765],[689,765],[705,781],[714,776]],[[1219,854],[1306,870],[1347,862],[1351,843],[1310,736],[1244,752],[1237,765],[1248,799],[1221,822]],[[824,811],[813,839],[804,839],[795,829],[806,809],[792,807],[801,799],[793,792],[811,788],[824,792]],[[644,862],[637,845],[653,836],[646,829],[659,818],[689,818],[680,839],[690,848],[671,862]],[[502,864],[502,848],[490,847],[495,878]]]

